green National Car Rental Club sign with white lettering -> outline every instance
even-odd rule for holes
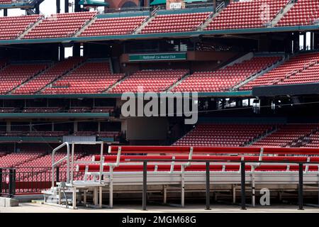
[[[186,52],[128,55],[128,61],[130,62],[167,61],[167,60],[186,60]]]

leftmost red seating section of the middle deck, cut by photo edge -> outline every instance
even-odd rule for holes
[[[47,68],[47,64],[9,65],[0,71],[0,94],[6,94]]]

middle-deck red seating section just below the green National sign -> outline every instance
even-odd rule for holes
[[[187,70],[142,70],[125,78],[114,87],[110,93],[123,92],[164,92],[181,77]],[[140,91],[142,89],[142,91]]]

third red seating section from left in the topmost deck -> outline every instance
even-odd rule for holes
[[[128,35],[138,28],[146,16],[97,18],[79,36]]]

